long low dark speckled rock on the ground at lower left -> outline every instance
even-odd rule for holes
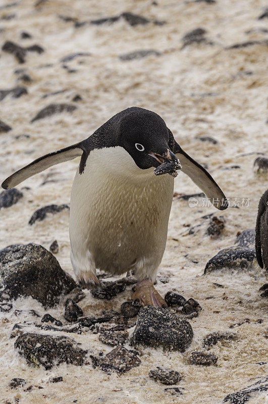
[[[87,354],[72,338],[33,333],[19,336],[14,346],[28,364],[43,365],[46,370],[61,363],[82,366]]]

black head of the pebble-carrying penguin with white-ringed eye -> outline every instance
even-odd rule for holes
[[[179,164],[171,151],[174,142],[171,136],[165,121],[143,108],[128,108],[120,120],[121,145],[143,170],[158,167],[164,161]],[[169,172],[168,167],[165,172]],[[161,170],[159,174],[164,172]]]

